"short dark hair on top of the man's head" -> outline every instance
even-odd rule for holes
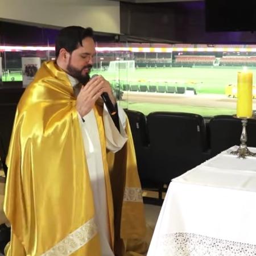
[[[93,38],[93,29],[91,27],[69,26],[60,30],[55,40],[55,55],[60,54],[60,49],[64,48],[67,52],[72,53],[77,47],[82,46],[82,40]]]

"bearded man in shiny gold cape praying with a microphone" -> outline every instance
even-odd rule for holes
[[[63,28],[56,62],[43,63],[19,101],[7,157],[9,256],[122,256],[144,236],[129,122],[109,82],[90,79],[94,54],[91,28]]]

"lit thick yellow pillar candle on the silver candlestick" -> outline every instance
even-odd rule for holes
[[[237,117],[253,115],[253,73],[238,72],[237,76]]]

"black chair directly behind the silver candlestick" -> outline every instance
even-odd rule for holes
[[[256,147],[256,120],[248,119],[247,146]],[[209,121],[210,155],[215,156],[234,145],[240,145],[242,133],[241,119],[232,115],[216,115]]]

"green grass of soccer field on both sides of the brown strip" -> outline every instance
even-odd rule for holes
[[[253,84],[256,84],[256,68],[249,68],[253,72]],[[195,67],[195,68],[139,68],[134,72],[120,71],[110,73],[108,71],[91,72],[97,73],[115,84],[130,85],[166,85],[166,86],[185,86],[193,87],[196,93],[225,94],[225,86],[237,84],[237,72],[242,71],[242,67]],[[10,72],[3,75],[3,81],[22,81],[20,72]],[[196,97],[196,96],[195,96]],[[222,108],[217,106],[207,108],[202,106],[183,105],[183,104],[155,104],[150,102],[131,102],[120,101],[123,108],[138,110],[144,114],[154,111],[173,111],[197,113],[211,117],[218,114],[234,114],[235,108]]]

